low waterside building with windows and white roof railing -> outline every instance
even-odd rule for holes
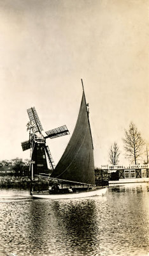
[[[108,170],[109,184],[149,182],[149,164],[103,165]]]

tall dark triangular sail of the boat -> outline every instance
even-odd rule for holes
[[[83,92],[75,130],[51,177],[95,184],[92,134],[88,115]]]

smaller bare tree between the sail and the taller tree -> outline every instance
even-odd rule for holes
[[[109,150],[109,161],[113,165],[118,164],[118,157],[120,156],[120,151],[117,145],[117,142],[114,142],[113,145],[111,145]]]

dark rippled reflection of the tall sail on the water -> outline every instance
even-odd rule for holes
[[[55,202],[52,209],[58,225],[62,227],[65,243],[71,250],[78,247],[82,253],[89,252],[96,244],[97,212],[94,200],[79,200],[60,204]],[[67,239],[68,238],[68,239]]]

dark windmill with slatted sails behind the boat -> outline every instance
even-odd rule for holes
[[[43,127],[38,117],[36,109],[27,109],[27,114],[29,116],[29,122],[27,123],[27,131],[29,131],[29,140],[21,143],[22,150],[31,149],[31,161],[34,161],[34,174],[39,174],[40,172],[47,172],[48,165],[46,158],[50,164],[50,170],[53,171],[55,164],[50,153],[48,145],[46,145],[46,139],[58,138],[69,134],[66,125],[60,126],[58,128],[52,129],[47,132],[43,132]]]

